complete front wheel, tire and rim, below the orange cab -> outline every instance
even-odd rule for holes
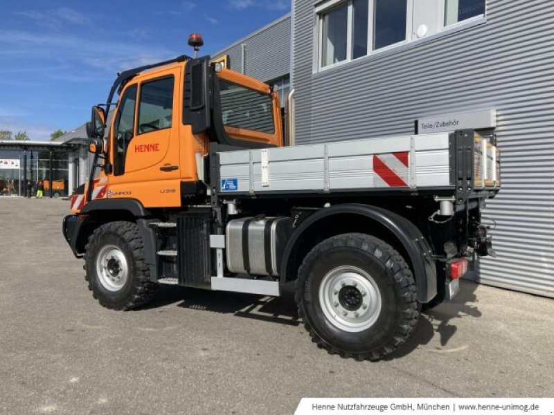
[[[150,282],[135,223],[118,221],[97,228],[86,247],[85,270],[89,290],[106,308],[132,310],[150,301],[157,288]]]

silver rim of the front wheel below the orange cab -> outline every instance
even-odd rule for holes
[[[129,276],[125,254],[115,245],[103,247],[96,257],[96,275],[108,291],[119,291]]]

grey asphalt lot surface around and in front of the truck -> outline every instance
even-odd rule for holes
[[[381,362],[318,349],[280,298],[163,287],[102,308],[69,202],[0,199],[0,414],[290,414],[302,397],[554,396],[554,301],[464,282]]]

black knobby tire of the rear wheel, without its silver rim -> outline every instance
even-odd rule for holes
[[[377,320],[356,333],[337,328],[320,304],[325,275],[341,266],[364,270],[381,297]],[[298,270],[295,299],[312,342],[328,353],[356,360],[379,360],[393,353],[409,338],[420,315],[408,264],[388,243],[367,234],[341,234],[315,246]]]

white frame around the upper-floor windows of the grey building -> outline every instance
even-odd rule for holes
[[[373,48],[373,39],[375,37],[375,0],[368,0],[368,44],[367,44],[367,55],[363,55],[357,58],[353,58],[352,43],[354,40],[354,6],[353,0],[328,0],[322,1],[321,3],[316,4],[314,7],[314,37],[315,39],[315,48],[314,48],[314,65],[313,72],[320,73],[328,71],[329,69],[336,68],[350,62],[358,62],[360,59],[368,59],[375,55],[382,53],[388,54],[393,52],[395,49],[402,50],[404,47],[411,46],[412,44],[420,44],[421,42],[428,42],[431,39],[436,39],[438,37],[443,37],[456,33],[459,30],[465,28],[471,28],[476,26],[476,24],[485,23],[487,20],[488,12],[488,0],[485,1],[485,13],[483,15],[477,15],[458,21],[456,24],[446,25],[445,21],[445,10],[446,10],[446,1],[438,1],[438,25],[436,33],[427,35],[422,38],[417,38],[413,35],[413,18],[414,18],[414,4],[417,0],[406,0],[406,37],[403,41],[384,46],[379,49]],[[346,59],[341,60],[340,62],[335,62],[330,65],[323,65],[323,19],[328,12],[331,12],[334,9],[340,8],[341,6],[346,5],[348,7],[348,25],[347,25],[347,50],[346,50]],[[404,46],[404,47],[402,47]]]

